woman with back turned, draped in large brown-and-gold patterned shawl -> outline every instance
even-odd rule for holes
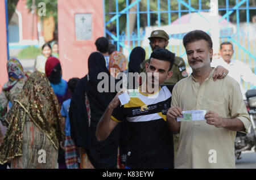
[[[0,147],[0,164],[11,159],[11,168],[57,168],[64,119],[45,74],[31,74],[6,120],[9,129]]]

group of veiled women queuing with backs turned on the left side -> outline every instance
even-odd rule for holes
[[[18,59],[7,61],[9,80],[0,94],[1,168],[122,168],[125,125],[115,127],[103,142],[95,132],[117,93],[98,92],[97,74],[106,72],[114,78],[110,68],[115,74],[128,71],[125,56],[112,52],[108,69],[104,56],[93,52],[88,74],[68,82],[62,79],[65,72],[58,58],[55,42],[43,45],[32,74],[23,71]],[[142,55],[139,61],[143,60]],[[130,61],[129,68],[134,71],[136,64]]]

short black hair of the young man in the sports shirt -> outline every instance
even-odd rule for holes
[[[172,66],[174,65],[174,57],[175,57],[175,54],[170,52],[167,49],[155,49],[150,55],[150,60],[151,58],[154,58],[154,59],[170,62],[170,67],[168,71],[171,71]],[[148,64],[150,63],[150,60],[148,61]]]

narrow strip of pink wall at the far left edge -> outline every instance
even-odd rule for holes
[[[8,80],[6,70],[7,63],[7,40],[6,40],[6,19],[5,19],[5,1],[0,1],[0,92],[3,84]]]

